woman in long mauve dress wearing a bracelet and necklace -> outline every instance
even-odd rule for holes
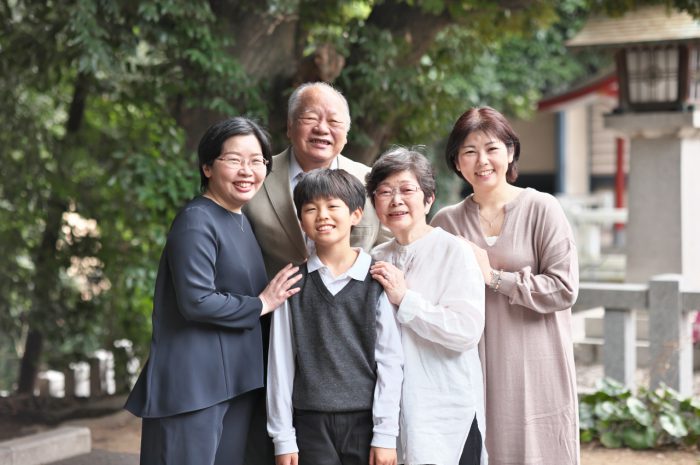
[[[513,185],[519,157],[502,114],[464,113],[446,158],[474,193],[440,210],[432,225],[471,241],[487,285],[480,353],[491,464],[577,465],[576,246],[554,197]]]

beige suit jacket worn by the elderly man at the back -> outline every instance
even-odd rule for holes
[[[253,225],[270,278],[287,263],[298,265],[308,257],[292,192],[289,189],[290,156],[290,149],[287,149],[272,158],[272,172],[243,210]],[[362,184],[365,183],[365,175],[370,170],[366,165],[342,155],[338,155],[338,168],[346,170],[362,181]],[[362,220],[357,226],[353,226],[350,233],[351,245],[369,252],[374,245],[388,238],[388,231],[380,226],[372,202],[367,199]]]

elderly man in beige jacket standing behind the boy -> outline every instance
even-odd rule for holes
[[[340,154],[349,130],[348,102],[331,85],[324,82],[302,84],[289,97],[287,137],[291,145],[272,158],[272,172],[244,209],[262,249],[269,277],[287,263],[299,264],[309,256],[311,244],[304,237],[292,200],[292,191],[303,173],[316,168],[340,168],[364,184],[370,168]],[[384,242],[388,234],[367,199],[362,221],[352,228],[352,246],[369,252],[374,245]],[[263,332],[268,330],[269,321],[263,321]],[[261,402],[264,402],[264,395]],[[265,428],[263,405],[259,410],[251,426],[246,463],[273,465],[272,442],[262,432]]]

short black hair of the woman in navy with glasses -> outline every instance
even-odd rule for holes
[[[255,121],[243,116],[219,121],[207,129],[199,141],[197,155],[199,156],[199,190],[204,192],[209,185],[209,178],[204,175],[203,167],[211,166],[214,160],[221,155],[221,148],[231,137],[254,135],[260,143],[262,155],[267,160],[267,174],[272,171],[272,147],[270,146],[270,136]]]

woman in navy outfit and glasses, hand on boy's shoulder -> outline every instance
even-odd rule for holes
[[[242,464],[263,386],[260,317],[296,293],[268,283],[241,208],[272,168],[267,134],[230,118],[198,148],[202,194],[178,213],[158,268],[149,359],[126,403],[143,418],[141,464]]]

